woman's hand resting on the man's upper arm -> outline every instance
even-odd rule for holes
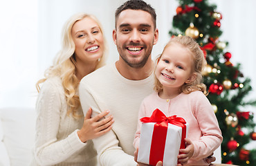
[[[91,113],[92,109],[90,108],[84,117],[84,124],[82,129],[77,131],[77,135],[82,142],[86,142],[87,140],[91,140],[93,138],[98,138],[104,133],[107,133],[111,130],[112,124],[114,122],[113,116],[104,118],[104,116],[107,116],[109,111],[99,113],[98,116],[93,118],[91,118]],[[100,120],[101,118],[104,119]]]

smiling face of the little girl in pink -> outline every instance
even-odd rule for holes
[[[195,79],[193,57],[188,48],[180,44],[171,44],[163,51],[155,71],[156,77],[163,84],[163,89],[179,90],[184,83]]]

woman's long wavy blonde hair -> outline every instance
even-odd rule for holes
[[[44,73],[44,78],[39,80],[36,84],[37,91],[40,91],[39,84],[45,82],[50,77],[60,77],[62,80],[62,86],[64,87],[64,93],[66,95],[66,102],[68,104],[68,112],[69,115],[72,113],[74,118],[79,118],[78,114],[76,113],[77,109],[80,107],[80,98],[77,95],[77,89],[80,80],[77,79],[76,73],[76,62],[75,62],[75,44],[72,39],[71,30],[73,25],[84,18],[91,18],[93,19],[99,26],[100,31],[103,35],[103,29],[100,25],[100,21],[93,17],[92,15],[88,15],[84,12],[77,13],[73,15],[70,19],[66,21],[62,29],[62,48],[57,53],[54,61],[53,66],[46,69]],[[104,55],[99,59],[99,62],[95,69],[104,66],[107,52],[106,41],[104,38]]]

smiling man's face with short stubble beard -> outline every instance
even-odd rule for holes
[[[124,10],[116,20],[113,30],[120,57],[129,66],[141,68],[151,57],[153,45],[158,41],[158,30],[154,30],[152,17],[143,10]]]

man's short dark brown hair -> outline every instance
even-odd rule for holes
[[[115,19],[117,21],[120,13],[124,10],[143,10],[148,12],[152,16],[152,21],[154,23],[154,29],[156,28],[156,12],[152,6],[145,3],[143,0],[129,0],[122,4],[119,8],[116,9]]]

